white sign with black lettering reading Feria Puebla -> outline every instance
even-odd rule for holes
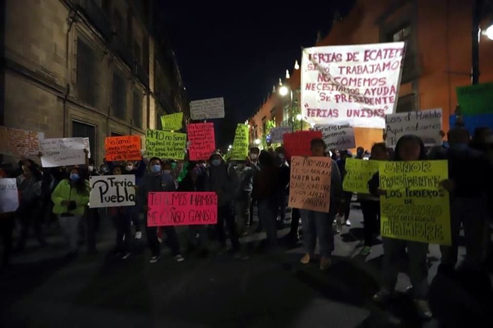
[[[135,205],[135,175],[101,175],[89,178],[89,207]]]

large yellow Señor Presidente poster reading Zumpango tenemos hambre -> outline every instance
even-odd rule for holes
[[[450,245],[446,160],[381,162],[380,196],[383,237]]]

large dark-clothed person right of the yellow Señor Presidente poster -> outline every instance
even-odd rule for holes
[[[464,228],[465,264],[478,270],[484,264],[487,248],[487,206],[493,180],[484,153],[469,147],[469,133],[456,127],[448,134],[449,149],[431,159],[448,160],[449,179],[442,186],[450,192],[450,228],[452,245],[441,246],[440,271],[456,269],[461,223]]]

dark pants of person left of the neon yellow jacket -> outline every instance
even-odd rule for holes
[[[30,202],[17,210],[17,218],[21,223],[21,232],[17,240],[17,248],[20,250],[26,246],[31,224],[34,226],[34,234],[36,235],[37,241],[41,245],[46,244],[45,238],[43,237],[43,216],[39,213],[38,204],[37,202]]]

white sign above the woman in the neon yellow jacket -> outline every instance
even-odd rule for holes
[[[41,165],[51,168],[85,164],[84,147],[84,138],[41,139]]]

